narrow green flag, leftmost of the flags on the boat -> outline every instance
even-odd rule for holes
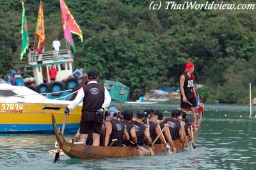
[[[28,49],[28,26],[27,26],[27,21],[26,21],[26,14],[25,14],[25,8],[24,8],[24,3],[22,3],[22,25],[21,25],[21,35],[22,35],[22,45],[20,49],[20,60],[22,60],[24,54],[26,53],[26,50]]]

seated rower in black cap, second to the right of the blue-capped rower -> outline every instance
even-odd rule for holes
[[[147,127],[143,126],[143,120],[145,119],[145,116],[146,114],[144,111],[138,111],[136,113],[135,120],[131,121],[132,125],[135,127],[138,145],[140,146],[145,144],[145,138],[147,144],[152,144],[152,139],[148,134]]]

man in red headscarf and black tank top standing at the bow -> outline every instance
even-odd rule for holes
[[[193,123],[192,127],[194,130],[197,130],[196,127],[196,91],[194,86],[195,76],[194,72],[194,64],[188,63],[185,68],[185,72],[180,76],[180,108],[182,111],[191,111],[193,113]]]

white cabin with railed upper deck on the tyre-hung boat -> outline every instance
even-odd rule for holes
[[[43,82],[50,82],[49,70],[51,66],[57,69],[56,81],[66,79],[72,75],[72,62],[74,61],[71,50],[60,50],[59,55],[54,59],[53,51],[29,56],[28,65],[33,68],[36,85]]]

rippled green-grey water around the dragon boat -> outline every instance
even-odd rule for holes
[[[123,105],[133,111],[145,107],[171,111],[179,105]],[[248,106],[205,105],[196,150],[190,147],[154,157],[79,160],[63,156],[54,164],[47,153],[54,149],[53,134],[0,134],[0,169],[256,169],[256,119],[248,118],[249,111]]]

